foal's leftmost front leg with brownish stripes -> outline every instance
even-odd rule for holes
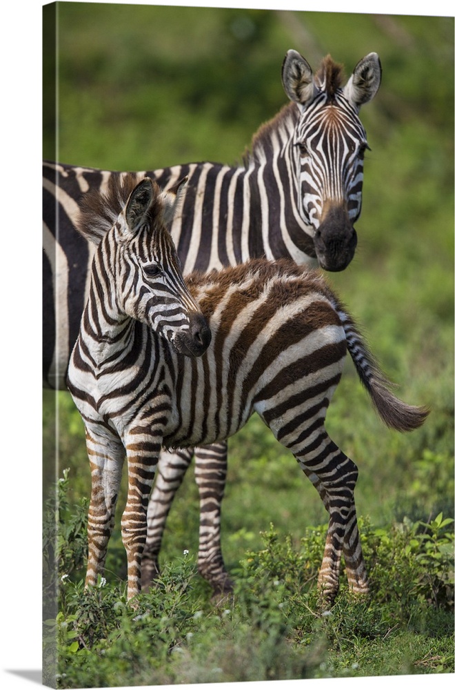
[[[87,528],[87,586],[97,584],[98,575],[103,575],[108,542],[114,528],[125,450],[114,437],[108,439],[88,428],[85,428],[85,442],[92,474]]]

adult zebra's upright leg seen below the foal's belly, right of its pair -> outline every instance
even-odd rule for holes
[[[195,477],[199,488],[198,570],[214,589],[214,598],[232,592],[234,583],[221,553],[221,500],[228,469],[228,444],[196,448]]]

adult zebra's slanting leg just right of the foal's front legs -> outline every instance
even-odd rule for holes
[[[147,510],[147,539],[142,554],[142,589],[148,591],[159,575],[159,552],[165,522],[177,489],[190,466],[193,449],[161,451],[158,471]]]

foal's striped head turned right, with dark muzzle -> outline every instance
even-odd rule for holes
[[[168,339],[176,351],[199,357],[212,336],[183,280],[168,232],[180,188],[181,183],[162,192],[145,177],[130,193],[113,228],[118,246],[117,304]]]

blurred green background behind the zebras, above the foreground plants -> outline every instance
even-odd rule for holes
[[[57,3],[58,121],[44,100],[43,155],[82,166],[144,170],[241,161],[287,99],[289,48],[316,69],[330,52],[349,77],[376,51],[378,95],[361,111],[372,152],[352,264],[329,275],[407,402],[432,415],[412,435],[378,422],[350,362],[327,429],[358,464],[358,513],[376,525],[453,515],[454,19],[274,10]],[[44,61],[53,90],[52,61]],[[57,140],[55,132],[57,131]],[[57,146],[56,146],[57,144]],[[90,493],[81,420],[68,393],[45,392],[45,477],[70,467],[74,499]],[[230,442],[223,503],[228,567],[260,548],[270,521],[295,539],[325,522],[296,462],[251,420]],[[190,471],[190,474],[192,471]],[[196,550],[198,505],[187,477],[165,557]],[[116,533],[108,568],[123,567]]]

